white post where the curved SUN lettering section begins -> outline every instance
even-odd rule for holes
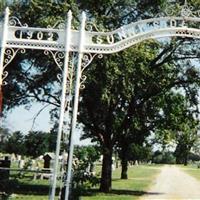
[[[81,65],[82,65],[83,50],[84,50],[85,22],[86,22],[86,14],[85,12],[82,12],[80,38],[79,38],[79,50],[78,50],[79,54],[78,54],[78,63],[77,63],[77,68],[76,68],[76,80],[75,80],[75,90],[74,90],[72,125],[71,125],[71,133],[70,133],[70,147],[69,147],[68,163],[67,163],[65,200],[68,200],[69,198],[69,190],[70,190],[70,183],[71,183],[72,161],[73,161],[73,152],[74,152],[74,134],[76,131],[80,78],[81,78]]]

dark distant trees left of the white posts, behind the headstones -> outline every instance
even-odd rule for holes
[[[3,135],[3,130],[1,129],[1,135]],[[53,131],[30,131],[27,135],[20,131],[6,133],[6,137],[0,142],[0,151],[3,153],[14,153],[36,158],[45,152],[55,151],[56,133]]]

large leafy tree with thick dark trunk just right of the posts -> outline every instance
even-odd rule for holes
[[[181,43],[170,44],[160,51],[161,46],[150,41],[106,56],[88,69],[80,121],[87,136],[102,145],[102,191],[111,187],[113,145],[119,143],[125,152],[130,141],[142,144],[160,117],[160,95],[174,88],[188,88],[190,83],[198,86],[198,71],[191,78],[188,70],[173,59],[176,56],[172,53]],[[163,59],[165,55],[168,56]],[[122,162],[127,171],[127,160]]]

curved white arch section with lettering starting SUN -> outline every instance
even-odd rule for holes
[[[200,18],[196,17],[161,17],[131,23],[112,32],[86,31],[84,52],[111,54],[144,40],[161,37],[200,38],[200,29],[193,28],[194,25],[199,27],[199,23]]]

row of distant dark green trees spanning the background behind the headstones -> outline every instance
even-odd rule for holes
[[[182,134],[181,138],[184,136]],[[44,155],[46,152],[54,152],[56,148],[56,132],[42,132],[42,131],[30,131],[28,134],[24,134],[20,131],[15,131],[10,133],[7,128],[0,128],[0,152],[9,153],[15,155],[24,155],[32,158],[36,158],[40,155]],[[169,151],[166,146],[163,147],[163,140],[156,142],[156,138],[150,142],[151,144],[138,145],[135,143],[130,143],[127,146],[127,160],[128,162],[135,163],[168,163],[168,164],[186,164],[185,160],[199,161],[200,154],[195,148],[199,148],[199,140],[193,141],[192,145],[187,143],[187,140],[177,141],[176,148],[173,151]],[[170,140],[171,141],[171,140]],[[166,142],[166,141],[165,141]],[[182,145],[181,145],[182,144]],[[187,144],[191,147],[187,147]],[[162,146],[161,150],[153,151],[153,146]],[[67,150],[67,146],[62,145],[62,150]],[[181,149],[181,151],[180,151]],[[191,151],[194,150],[194,151]],[[97,161],[102,154],[101,148],[98,145],[95,146],[77,146],[75,148],[75,156],[81,160],[88,160],[88,162],[93,163]],[[115,162],[121,160],[121,150],[114,149]],[[187,154],[187,155],[186,155]],[[114,155],[113,155],[114,156]]]

